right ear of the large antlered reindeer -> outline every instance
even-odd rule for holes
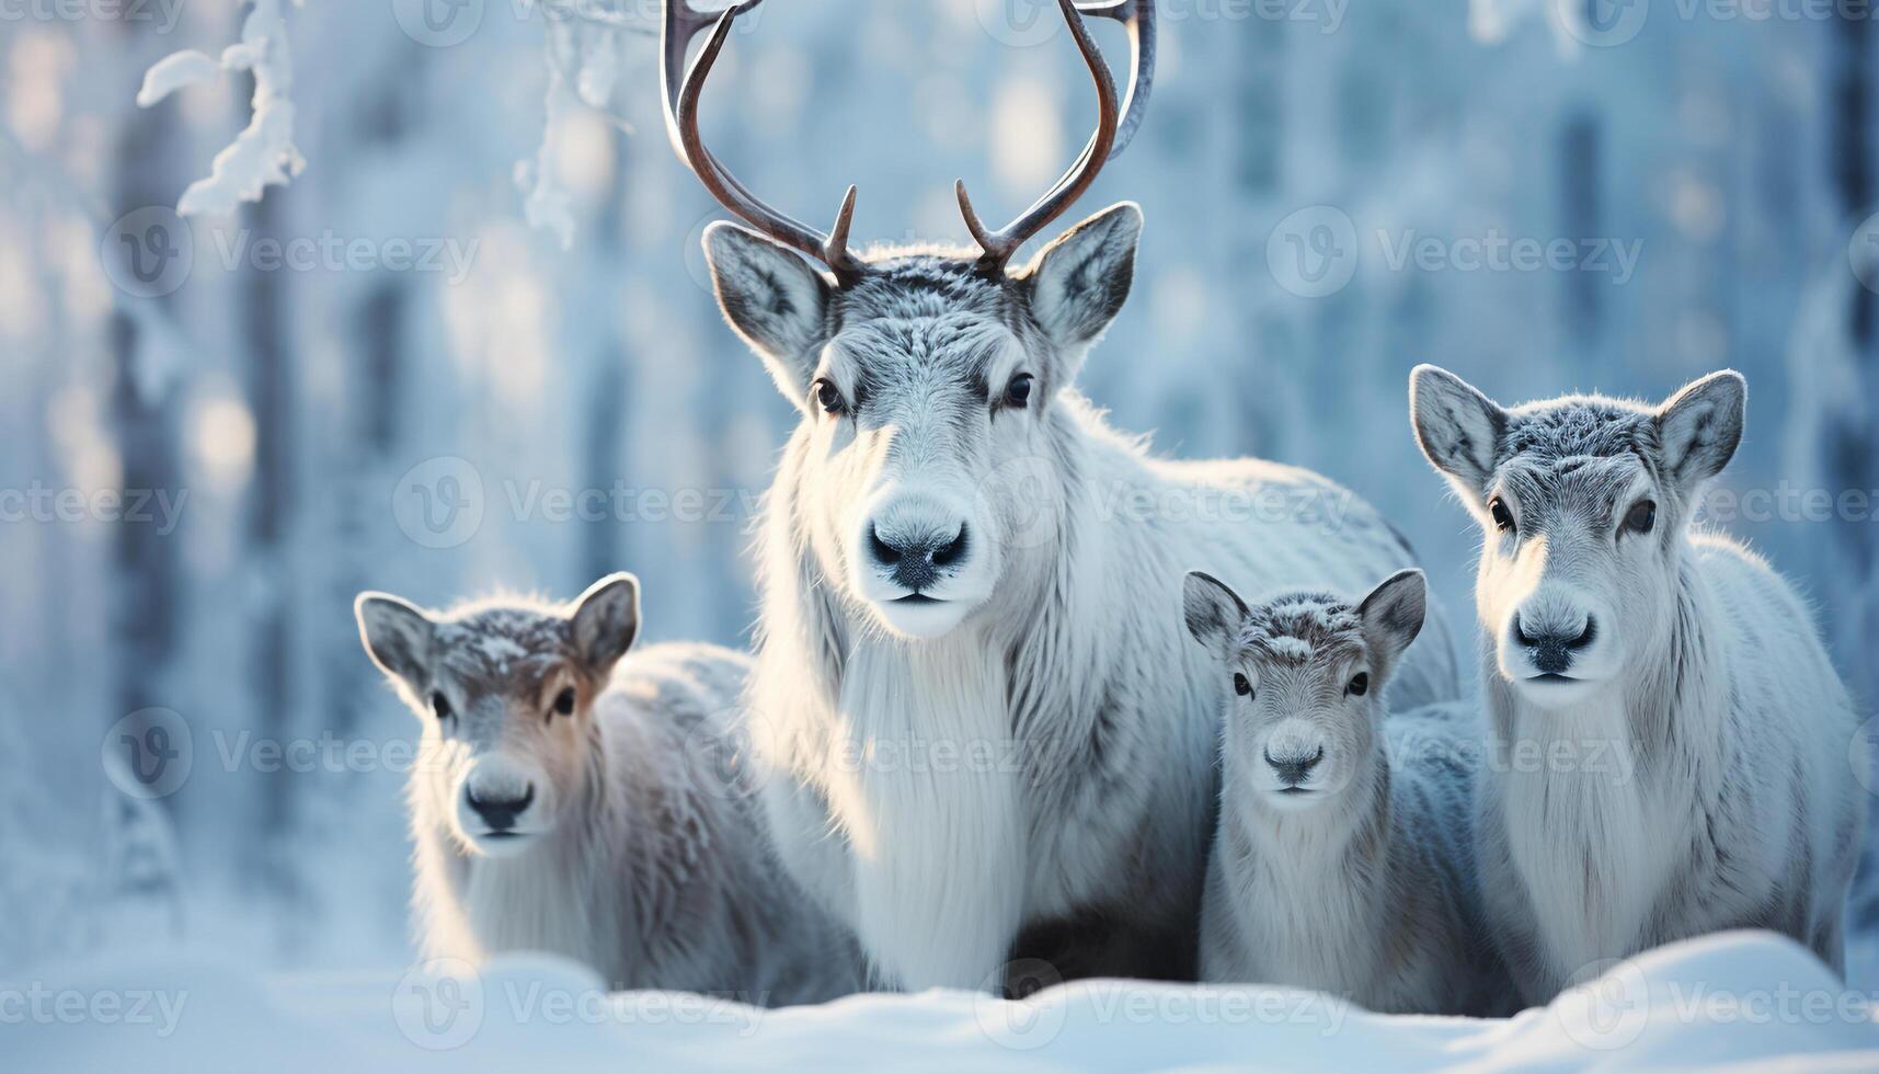
[[[1039,250],[1024,280],[1032,316],[1050,342],[1064,350],[1088,346],[1116,320],[1135,282],[1135,243],[1141,237],[1142,211],[1124,201]]]

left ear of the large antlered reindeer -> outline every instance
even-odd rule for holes
[[[795,250],[723,220],[705,228],[705,261],[725,320],[763,359],[778,391],[808,414],[834,290]]]

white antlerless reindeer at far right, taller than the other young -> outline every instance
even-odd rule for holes
[[[1689,529],[1746,401],[1736,372],[1661,406],[1511,410],[1436,367],[1409,378],[1417,440],[1483,530],[1496,764],[1479,860],[1531,1003],[1603,959],[1732,927],[1843,969],[1864,824],[1853,705],[1793,587]]]

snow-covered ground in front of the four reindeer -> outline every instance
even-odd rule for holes
[[[1077,982],[759,1010],[613,993],[547,957],[269,976],[184,957],[0,984],[6,1070],[1879,1070],[1879,1023],[1802,948],[1727,933],[1505,1021],[1385,1018],[1272,987]]]

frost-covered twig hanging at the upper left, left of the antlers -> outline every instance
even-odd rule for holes
[[[184,49],[163,56],[143,75],[137,103],[150,107],[171,92],[224,71],[254,71],[254,117],[227,149],[216,154],[209,177],[182,192],[177,213],[184,216],[233,213],[241,201],[259,201],[269,186],[286,186],[306,162],[293,147],[293,56],[280,0],[248,0],[241,41],[216,62]],[[295,0],[299,6],[299,0]]]

